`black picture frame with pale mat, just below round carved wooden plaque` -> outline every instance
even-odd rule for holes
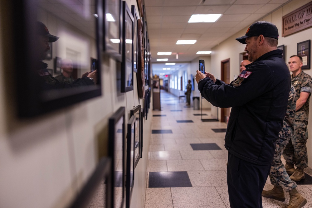
[[[137,166],[140,158],[142,158],[142,114],[141,105],[137,105],[130,110],[130,117],[135,116],[134,128],[134,169]]]

